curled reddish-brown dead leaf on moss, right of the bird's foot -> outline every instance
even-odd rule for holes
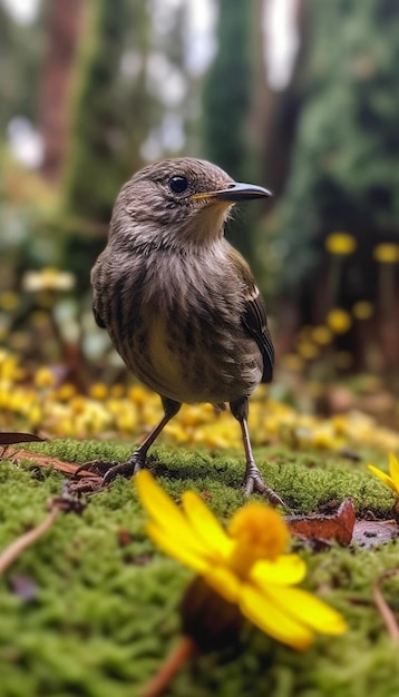
[[[285,520],[292,534],[310,540],[335,540],[340,544],[350,544],[356,512],[352,500],[348,498],[332,516],[288,516]]]

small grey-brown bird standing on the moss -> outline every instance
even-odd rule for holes
[[[183,403],[228,403],[242,432],[244,494],[284,504],[263,481],[247,426],[249,399],[273,375],[265,303],[224,234],[235,204],[269,196],[192,157],[147,165],[120,189],[91,269],[93,310],[128,370],[159,394],[164,415],[126,462],[109,463],[104,485],[145,467]]]

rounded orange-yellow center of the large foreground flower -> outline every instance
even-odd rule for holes
[[[284,552],[290,539],[281,516],[262,503],[249,503],[240,509],[230,523],[228,533],[235,546],[227,565],[242,579],[256,561],[274,561]]]

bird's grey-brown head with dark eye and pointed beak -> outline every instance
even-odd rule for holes
[[[115,205],[110,239],[124,246],[207,246],[223,236],[232,206],[271,193],[234,181],[223,169],[191,157],[144,167],[123,187]]]

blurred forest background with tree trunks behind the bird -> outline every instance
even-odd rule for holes
[[[120,185],[183,154],[274,193],[227,232],[267,297],[272,393],[398,423],[396,0],[2,0],[0,63],[0,338],[20,381],[126,384],[89,271]]]

